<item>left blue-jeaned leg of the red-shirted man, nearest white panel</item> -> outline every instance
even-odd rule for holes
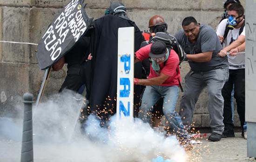
[[[152,117],[151,112],[153,106],[161,98],[160,93],[157,92],[158,86],[147,86],[141,100],[141,107],[139,111],[139,118],[144,122],[150,123]]]

